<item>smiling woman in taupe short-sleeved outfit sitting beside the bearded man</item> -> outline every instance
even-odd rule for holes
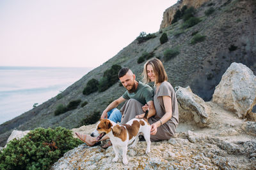
[[[148,60],[143,69],[143,81],[154,81],[154,106],[156,115],[148,118],[151,125],[151,141],[170,139],[174,136],[179,123],[179,109],[175,91],[167,81],[164,66],[159,59]],[[143,111],[149,106],[145,104]],[[137,116],[142,117],[143,115]]]

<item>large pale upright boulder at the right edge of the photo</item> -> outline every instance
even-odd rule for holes
[[[232,111],[239,118],[249,117],[255,121],[252,110],[256,104],[256,76],[248,67],[233,62],[223,74],[212,101]]]

